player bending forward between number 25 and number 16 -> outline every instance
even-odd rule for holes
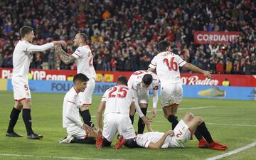
[[[146,110],[149,103],[149,90],[153,89],[153,108],[152,114],[156,115],[156,106],[158,102],[158,88],[159,88],[159,78],[155,73],[147,70],[138,70],[132,73],[128,80],[128,87],[134,91],[135,105],[140,107],[142,113],[139,112],[138,121],[138,134],[144,132],[145,124],[142,121],[142,116],[146,115]],[[130,117],[132,124],[134,121],[134,115]]]

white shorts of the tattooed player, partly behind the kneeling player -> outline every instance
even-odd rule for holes
[[[84,92],[79,93],[80,105],[92,105],[92,93],[95,90],[95,79],[90,78]]]

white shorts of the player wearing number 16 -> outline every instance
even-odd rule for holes
[[[182,83],[161,86],[162,107],[179,105],[182,101]]]

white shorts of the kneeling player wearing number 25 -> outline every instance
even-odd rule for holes
[[[109,142],[112,142],[117,131],[124,139],[133,139],[136,137],[132,121],[128,115],[122,113],[108,113],[105,114],[103,122],[102,136]]]

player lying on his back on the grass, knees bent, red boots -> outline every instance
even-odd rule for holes
[[[210,132],[208,131],[205,122],[201,117],[194,117],[193,114],[187,113],[183,119],[178,122],[174,130],[168,132],[153,132],[150,124],[147,124],[149,132],[145,134],[138,134],[136,139],[122,139],[119,138],[119,148],[125,145],[130,148],[138,146],[149,148],[149,149],[160,149],[160,148],[185,148],[186,144],[193,137],[196,129],[202,135],[204,146],[201,148],[209,148],[215,150],[225,150],[228,146],[219,144],[213,141]]]

